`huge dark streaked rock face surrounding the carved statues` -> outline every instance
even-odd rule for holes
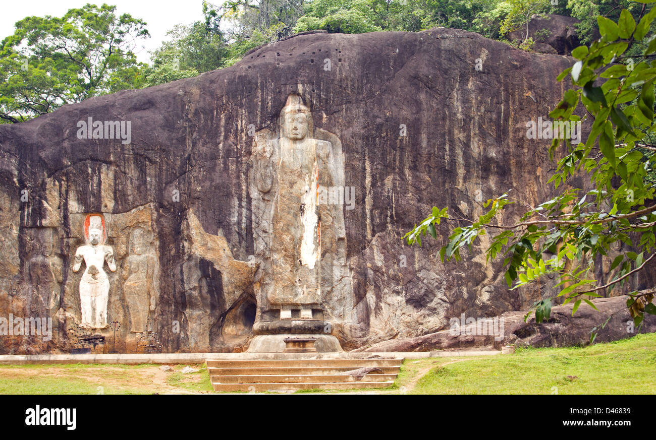
[[[548,141],[527,139],[526,122],[546,119],[565,86],[548,80],[570,64],[453,29],[300,35],[228,69],[0,126],[0,319],[52,318],[51,338],[12,333],[0,350],[92,341],[238,352],[254,326],[274,326],[266,314],[285,304],[262,295],[273,265],[266,234],[288,219],[262,220],[274,168],[259,147],[279,137],[293,94],[310,109],[317,145],[331,145],[332,185],[354,189],[353,209],[318,208],[327,232],[312,325],[330,323],[323,331],[348,350],[448,328],[462,313],[527,308],[553,282],[508,291],[500,262],[485,265],[485,238],[443,265],[446,229],[423,248],[401,236],[432,206],[472,218],[509,189],[546,200]],[[83,274],[72,270],[91,213],[104,218],[117,266],[105,270],[101,329],[81,325]]]

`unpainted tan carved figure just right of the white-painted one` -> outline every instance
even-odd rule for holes
[[[123,293],[130,311],[130,331],[142,333],[148,322],[148,312],[155,310],[157,297],[157,261],[151,253],[144,253],[144,229],[135,228],[130,236],[131,253],[123,267]]]

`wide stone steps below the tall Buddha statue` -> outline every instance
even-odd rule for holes
[[[394,384],[402,358],[385,359],[207,359],[207,371],[216,392],[296,390],[354,390],[385,388]],[[377,367],[361,380],[346,371]]]

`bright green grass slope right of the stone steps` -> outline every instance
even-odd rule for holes
[[[656,334],[651,333],[584,348],[525,348],[513,355],[438,365],[409,392],[654,394],[654,365]]]

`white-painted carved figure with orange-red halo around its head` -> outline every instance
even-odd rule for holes
[[[87,244],[75,251],[73,272],[77,272],[82,261],[87,268],[80,280],[80,306],[82,327],[103,329],[107,323],[107,303],[110,295],[110,280],[103,270],[105,262],[112,272],[116,263],[112,246],[104,244],[107,234],[104,218],[100,215],[87,215],[85,219],[85,240]]]

